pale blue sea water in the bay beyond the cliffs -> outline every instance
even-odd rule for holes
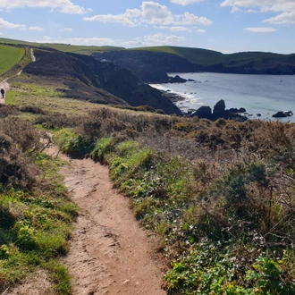
[[[173,94],[183,113],[195,112],[202,105],[212,109],[221,99],[225,108],[244,107],[249,119],[295,122],[295,75],[245,75],[213,72],[169,72],[185,83],[150,84]],[[279,111],[292,111],[286,118],[273,118]]]

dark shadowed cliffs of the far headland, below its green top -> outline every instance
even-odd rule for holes
[[[182,54],[185,56],[185,51]],[[120,50],[93,56],[97,60],[106,59],[125,67],[148,83],[168,83],[167,72],[295,74],[295,55],[261,52],[216,55],[216,52],[206,51],[203,63],[198,55],[204,55],[204,50],[195,49],[193,54],[190,53],[190,60],[198,63],[192,63],[180,55],[147,50]]]

